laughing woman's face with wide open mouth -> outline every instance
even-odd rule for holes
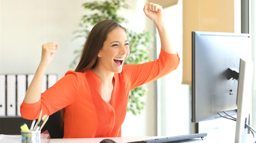
[[[129,55],[129,42],[122,28],[111,30],[98,53],[98,63],[113,73],[121,73],[124,60]],[[115,60],[114,60],[115,59]]]

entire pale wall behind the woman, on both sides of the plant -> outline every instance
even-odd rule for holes
[[[78,30],[78,23],[83,15],[90,13],[81,5],[93,0],[1,0],[0,1],[0,74],[35,73],[41,60],[41,46],[55,41],[59,45],[54,59],[48,66],[46,74],[57,73],[58,80],[69,69],[74,59],[73,51],[81,49],[85,39],[71,41]],[[136,32],[154,31],[154,24],[143,12],[146,0],[127,0],[130,10],[121,9],[119,15],[126,17],[130,23],[121,24]],[[154,59],[155,48],[149,50]],[[148,83],[146,103],[141,115],[127,113],[122,125],[122,136],[155,136],[155,83]]]

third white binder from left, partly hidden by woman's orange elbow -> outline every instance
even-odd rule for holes
[[[17,116],[20,115],[20,105],[26,94],[26,75],[17,75]]]

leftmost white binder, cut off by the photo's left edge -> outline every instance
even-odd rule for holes
[[[5,75],[0,75],[0,116],[5,116]]]

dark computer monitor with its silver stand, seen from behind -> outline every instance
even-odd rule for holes
[[[192,32],[192,122],[237,114],[235,143],[246,142],[252,75],[249,34]]]

